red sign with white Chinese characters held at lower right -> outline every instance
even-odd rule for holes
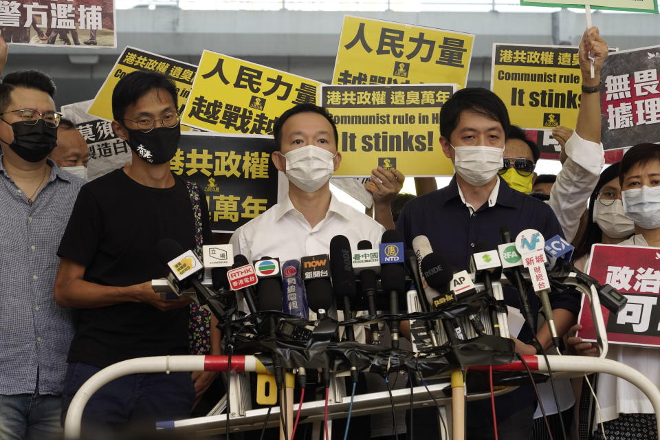
[[[587,272],[628,298],[628,304],[617,315],[601,307],[608,342],[660,347],[660,249],[594,245]],[[578,322],[582,325],[580,337],[595,341],[587,298],[582,300]]]

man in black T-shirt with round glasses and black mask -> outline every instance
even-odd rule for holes
[[[181,135],[173,83],[151,72],[129,74],[115,86],[112,106],[113,129],[131,146],[133,164],[83,187],[58,250],[55,300],[77,309],[63,420],[78,388],[100,369],[188,354],[189,300],[165,300],[151,288],[168,271],[156,245],[173,239],[195,250],[210,239],[206,197],[170,172]],[[157,420],[186,417],[194,397],[189,373],[122,377],[91,397],[83,430],[136,421],[153,428]]]

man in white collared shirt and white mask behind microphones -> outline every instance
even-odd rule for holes
[[[283,113],[273,132],[279,151],[272,159],[289,179],[289,194],[234,232],[230,240],[234,254],[243,254],[248,261],[327,254],[336,235],[347,236],[353,250],[361,240],[380,243],[382,225],[330,192],[330,177],[342,155],[329,113],[314,104],[298,104]]]

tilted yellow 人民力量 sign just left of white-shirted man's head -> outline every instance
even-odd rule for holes
[[[316,102],[318,81],[205,50],[181,122],[218,133],[271,134],[282,113]]]

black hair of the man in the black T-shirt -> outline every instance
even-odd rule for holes
[[[177,87],[174,82],[163,74],[138,70],[124,76],[115,85],[115,89],[112,91],[112,117],[123,124],[126,108],[135,104],[137,100],[153,89],[168,91],[172,96],[174,107],[178,111]]]

